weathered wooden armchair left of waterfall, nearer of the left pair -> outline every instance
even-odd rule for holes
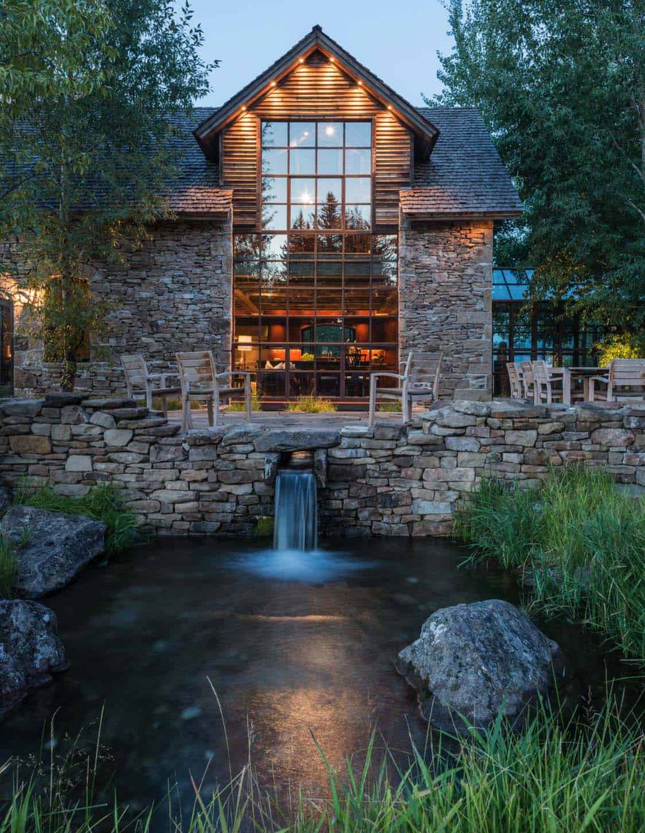
[[[217,425],[221,398],[244,395],[246,419],[251,422],[251,373],[243,371],[216,371],[210,350],[176,353],[181,384],[181,426],[184,431],[192,428],[191,402],[206,402],[209,426]],[[233,377],[244,377],[244,384],[234,385]],[[226,380],[229,380],[226,384]]]

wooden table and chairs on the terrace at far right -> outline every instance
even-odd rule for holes
[[[551,367],[507,362],[511,397],[542,402],[623,402],[645,399],[645,359],[612,359],[609,367]]]

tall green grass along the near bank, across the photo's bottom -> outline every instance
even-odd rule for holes
[[[446,742],[449,741],[449,742]],[[313,749],[312,749],[313,751]],[[645,829],[643,733],[618,719],[611,705],[595,716],[563,722],[538,709],[521,735],[500,718],[486,733],[439,736],[434,748],[412,748],[407,763],[377,751],[365,764],[348,761],[341,776],[318,752],[328,797],[290,791],[285,801],[265,792],[251,761],[230,783],[191,776],[188,818],[173,808],[136,817],[116,799],[97,798],[96,756],[87,755],[86,787],[64,768],[39,779],[14,777],[0,811],[0,833],[638,833]],[[77,798],[72,798],[76,795]],[[164,815],[167,818],[164,819]]]

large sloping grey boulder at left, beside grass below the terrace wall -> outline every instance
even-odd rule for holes
[[[69,584],[105,549],[106,526],[82,515],[12,506],[0,532],[14,545],[21,596],[36,599]]]

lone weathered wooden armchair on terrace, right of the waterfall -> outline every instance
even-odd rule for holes
[[[419,350],[409,352],[402,373],[378,372],[370,375],[370,418],[374,425],[376,416],[376,397],[383,399],[400,399],[403,421],[409,421],[414,402],[434,402],[439,396],[439,374],[441,372],[442,353],[429,353]],[[379,380],[388,377],[399,382],[398,387],[379,387]]]

